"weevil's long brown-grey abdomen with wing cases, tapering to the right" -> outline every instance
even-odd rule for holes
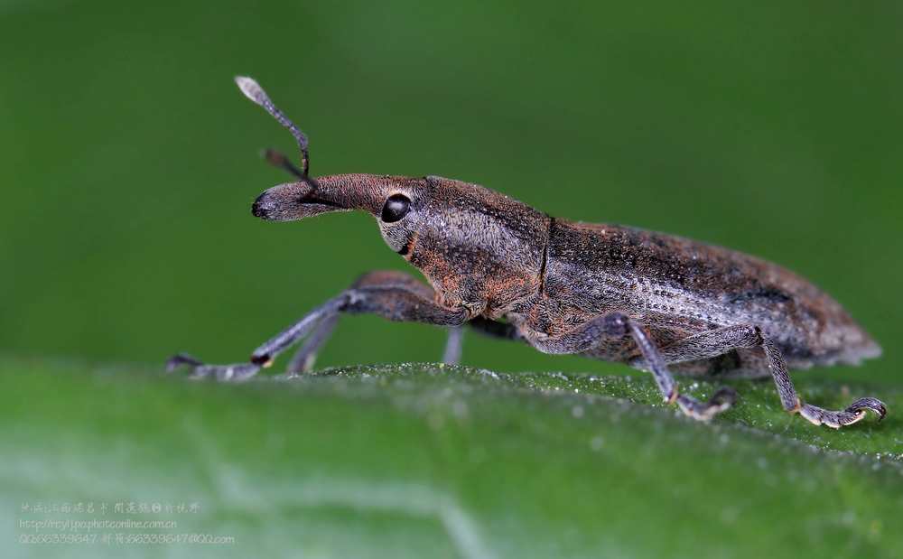
[[[535,326],[552,335],[618,310],[647,326],[659,347],[749,323],[777,342],[788,368],[856,364],[880,355],[850,313],[800,275],[753,256],[641,229],[554,220],[543,288],[539,299],[558,308],[550,313],[554,318]],[[626,339],[585,355],[628,362],[637,352]],[[691,375],[768,375],[761,349],[670,367]]]

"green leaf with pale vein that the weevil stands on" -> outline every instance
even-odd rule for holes
[[[739,405],[700,423],[642,374],[403,365],[236,385],[8,357],[0,372],[3,541],[34,533],[14,527],[28,519],[178,522],[95,529],[88,545],[11,544],[14,555],[903,553],[898,388],[798,383],[816,405],[889,406],[883,422],[835,431],[781,411],[764,382],[731,381]],[[698,397],[716,388],[681,383]],[[21,510],[78,502],[95,513]],[[114,512],[129,502],[198,509]],[[117,545],[120,533],[234,542]]]

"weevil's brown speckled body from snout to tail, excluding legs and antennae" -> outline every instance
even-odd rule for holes
[[[424,273],[442,306],[466,309],[469,320],[508,321],[531,345],[621,311],[646,327],[660,348],[749,323],[777,343],[788,368],[854,364],[880,354],[830,296],[753,256],[637,228],[555,219],[479,185],[440,177],[335,175],[318,181],[316,200],[303,200],[287,219],[353,209],[378,216],[387,196],[405,194],[415,217],[400,230],[380,223],[389,246]],[[299,196],[307,190],[299,182],[275,188],[297,188]],[[604,340],[580,355],[646,368],[630,337]],[[769,374],[759,348],[672,361],[669,368],[694,376]]]

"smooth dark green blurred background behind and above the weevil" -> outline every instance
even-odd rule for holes
[[[310,136],[316,175],[435,174],[767,258],[885,349],[838,374],[900,378],[899,3],[0,9],[2,349],[244,361],[357,275],[416,274],[368,215],[250,215],[289,180],[258,150],[296,148],[232,82],[247,74]],[[443,335],[356,317],[320,364],[434,361]],[[497,371],[622,370],[466,343]]]

